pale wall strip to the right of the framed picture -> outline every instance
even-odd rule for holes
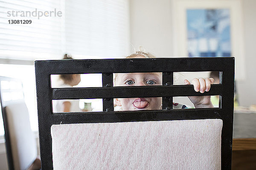
[[[240,105],[256,105],[256,0],[243,0],[246,80],[237,81]]]

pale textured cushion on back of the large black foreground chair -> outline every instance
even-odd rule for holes
[[[55,170],[220,170],[221,119],[52,125]]]

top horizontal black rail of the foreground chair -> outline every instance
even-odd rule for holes
[[[35,61],[41,73],[86,74],[86,73],[147,73],[147,72],[192,72],[223,71],[229,69],[234,57],[207,58],[152,58],[152,59],[65,59]],[[39,67],[37,65],[40,65]],[[54,67],[48,67],[54,65]],[[74,68],[75,66],[75,68]],[[48,68],[47,70],[44,68]]]

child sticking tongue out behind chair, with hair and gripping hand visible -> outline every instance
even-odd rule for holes
[[[152,54],[137,51],[126,58],[155,58]],[[194,85],[195,91],[209,91],[213,84],[213,78],[200,78],[193,79],[190,83],[187,79],[184,80],[186,85]],[[142,85],[162,85],[162,73],[119,73],[114,74],[114,86],[142,86]],[[195,108],[212,108],[210,96],[189,96]],[[115,99],[116,105],[120,110],[155,110],[162,109],[161,97],[148,97],[148,98],[126,98]],[[185,105],[173,103],[173,108],[186,108]]]

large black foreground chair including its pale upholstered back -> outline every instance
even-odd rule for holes
[[[231,169],[234,57],[35,61],[42,169]],[[220,71],[209,92],[173,72]],[[113,87],[113,73],[163,72],[163,86]],[[51,74],[102,73],[100,88],[51,88]],[[125,93],[124,93],[125,91]],[[219,108],[173,109],[174,96]],[[113,111],[114,98],[162,97],[162,110]],[[52,113],[53,99],[103,99],[102,112]]]

